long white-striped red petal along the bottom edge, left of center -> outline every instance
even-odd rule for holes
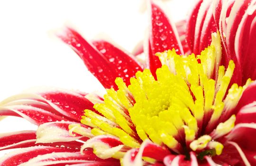
[[[95,156],[92,150],[86,151],[83,155],[80,152],[57,152],[40,155],[30,159],[26,163],[22,163],[19,166],[48,166],[56,164],[77,164],[77,163],[102,163],[105,164],[117,164],[118,160],[106,160]]]

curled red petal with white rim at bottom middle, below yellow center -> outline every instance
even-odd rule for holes
[[[127,151],[123,157],[123,166],[140,166],[142,165],[142,157],[150,157],[159,161],[163,161],[164,157],[170,155],[167,148],[145,140],[140,148],[133,148]]]

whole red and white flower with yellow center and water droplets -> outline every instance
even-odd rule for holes
[[[39,125],[0,135],[0,150],[21,148],[0,165],[255,165],[255,6],[198,0],[185,32],[151,2],[146,65],[64,29],[57,36],[107,93],[53,89],[0,102],[0,115]]]

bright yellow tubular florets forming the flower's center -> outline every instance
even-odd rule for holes
[[[174,49],[156,55],[162,64],[157,78],[149,69],[137,72],[129,86],[116,78],[118,90],[108,89],[104,101],[94,105],[98,112],[85,110],[81,123],[92,127],[94,136],[119,138],[128,149],[149,139],[186,157],[190,151],[198,158],[220,155],[224,147],[218,138],[234,128],[231,111],[251,80],[244,86],[229,85],[235,64],[219,66],[218,32],[201,55],[177,55]]]

